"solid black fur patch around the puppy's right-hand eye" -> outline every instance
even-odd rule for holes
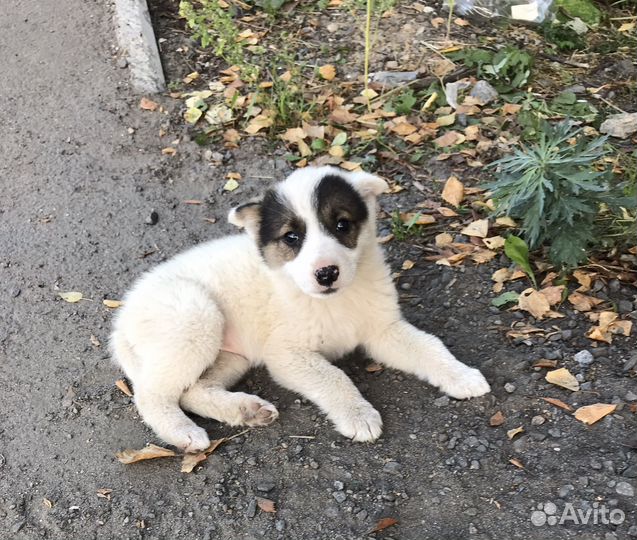
[[[324,176],[314,190],[314,206],[325,231],[345,247],[355,248],[368,212],[351,184],[335,174]]]

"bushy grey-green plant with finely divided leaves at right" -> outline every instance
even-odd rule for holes
[[[490,165],[497,167],[496,180],[486,186],[496,214],[521,223],[530,249],[548,244],[558,267],[576,266],[599,243],[595,221],[602,205],[635,205],[611,185],[610,170],[599,163],[608,153],[606,137],[588,139],[581,131],[568,122],[546,124],[536,144]]]

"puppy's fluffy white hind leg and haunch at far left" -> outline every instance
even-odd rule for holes
[[[206,448],[206,431],[179,407],[182,394],[211,365],[221,346],[224,319],[197,283],[172,278],[153,294],[131,298],[117,321],[137,357],[131,371],[135,403],[159,437],[186,452]]]

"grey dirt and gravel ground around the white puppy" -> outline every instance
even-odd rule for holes
[[[230,232],[228,209],[288,165],[255,143],[212,167],[174,131],[167,137],[180,138],[179,154],[163,156],[170,114],[138,108],[112,36],[101,2],[9,0],[0,21],[0,538],[637,537],[634,339],[592,347],[588,322],[565,309],[564,319],[535,323],[545,334],[511,340],[511,325],[529,321],[490,308],[497,261],[427,263],[424,239],[387,245],[394,269],[419,261],[397,281],[405,315],[480,367],[491,394],[457,402],[397,372],[370,373],[352,355],[342,366],[385,423],[378,442],[354,444],[311,403],[254,372],[241,386],[278,407],[273,426],[221,446],[191,474],[174,459],[120,464],[117,451],[160,441],[114,385],[121,374],[106,348],[112,311],[102,299]],[[171,112],[171,100],[158,101]],[[226,193],[230,170],[244,180]],[[401,204],[381,201],[387,211]],[[87,299],[66,303],[62,291]],[[634,314],[634,289],[610,280],[599,294]],[[582,350],[593,354],[588,366],[573,358]],[[559,360],[582,390],[546,383],[532,367],[540,358]],[[541,397],[618,407],[586,426]],[[491,427],[497,411],[505,421]],[[200,422],[211,438],[240,431]],[[524,433],[509,439],[518,426]],[[552,525],[568,508],[591,510],[590,520]],[[397,524],[370,533],[389,517]]]

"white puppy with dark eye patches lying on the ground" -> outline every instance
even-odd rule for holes
[[[457,399],[490,390],[477,369],[403,319],[376,241],[385,188],[363,172],[300,169],[230,212],[247,234],[194,247],[137,281],[111,347],[160,438],[186,452],[208,446],[184,411],[233,426],[273,422],[274,405],[228,390],[263,364],[345,437],[373,441],[380,414],[331,364],[357,346]]]

